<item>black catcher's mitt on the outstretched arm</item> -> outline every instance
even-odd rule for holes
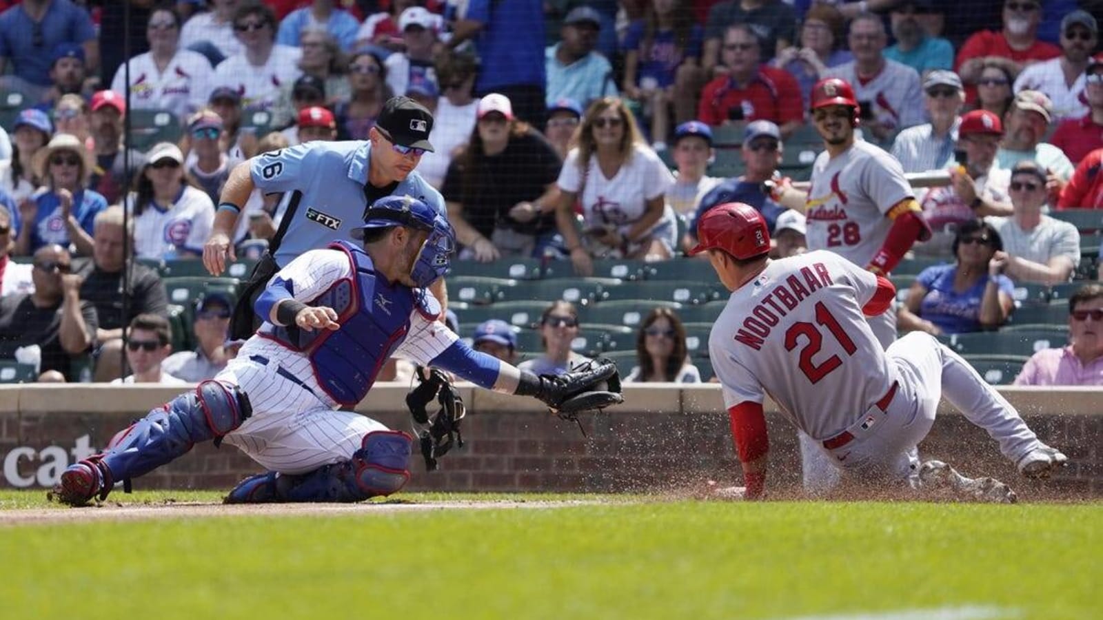
[[[617,365],[604,359],[591,360],[561,375],[522,372],[517,394],[539,398],[566,420],[577,420],[581,411],[624,402]]]

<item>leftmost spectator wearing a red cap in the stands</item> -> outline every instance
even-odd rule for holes
[[[95,143],[96,167],[92,171],[90,188],[114,204],[122,197],[124,188],[130,184],[122,149],[126,133],[122,119],[127,101],[114,90],[100,90],[92,96],[92,139]],[[130,170],[144,165],[144,157],[130,149]]]

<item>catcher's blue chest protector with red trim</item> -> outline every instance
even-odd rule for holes
[[[432,321],[440,316],[440,302],[425,289],[387,284],[367,254],[347,242],[329,247],[349,256],[353,275],[336,280],[308,304],[332,308],[341,328],[306,331],[276,325],[263,335],[306,354],[325,394],[352,407],[364,399],[379,367],[406,339],[410,312],[416,309]]]

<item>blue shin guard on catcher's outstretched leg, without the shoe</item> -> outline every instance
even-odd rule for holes
[[[176,459],[199,441],[219,440],[251,414],[237,386],[204,381],[111,438],[101,456],[113,480],[129,480]]]

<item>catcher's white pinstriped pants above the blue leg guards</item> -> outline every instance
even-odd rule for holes
[[[306,473],[346,461],[364,436],[387,430],[378,421],[341,411],[302,385],[249,359],[231,360],[215,378],[234,383],[249,397],[253,415],[224,438],[264,468]]]

